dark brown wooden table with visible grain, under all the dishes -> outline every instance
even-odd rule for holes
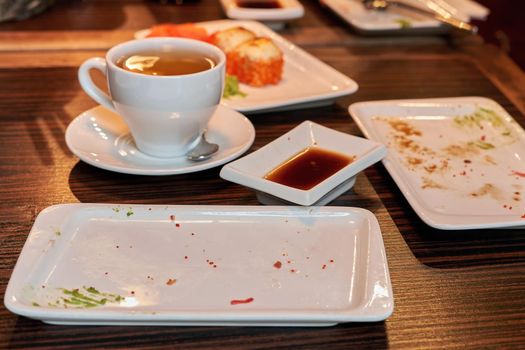
[[[359,83],[330,107],[250,119],[254,151],[305,119],[360,134],[347,113],[357,101],[485,96],[525,126],[525,78],[478,37],[362,37],[316,0],[282,35]],[[147,177],[104,171],[66,147],[70,121],[95,103],[78,65],[154,23],[223,18],[215,0],[58,1],[38,17],[0,24],[0,291],[33,221],[57,203],[258,205],[219,178],[219,168]],[[197,185],[198,184],[198,185]],[[364,207],[385,241],[395,311],[385,322],[329,328],[51,326],[0,309],[2,347],[226,349],[517,348],[525,346],[523,230],[439,231],[425,225],[378,164],[331,205]]]

